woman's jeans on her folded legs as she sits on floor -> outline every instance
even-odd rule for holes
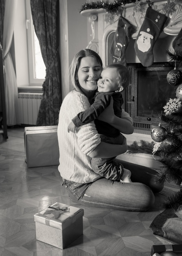
[[[63,180],[69,197],[87,206],[122,211],[147,211],[155,201],[153,192],[161,191],[164,184],[155,183],[156,171],[151,168],[121,160],[118,162],[131,171],[132,183],[107,180],[103,177],[86,184]]]

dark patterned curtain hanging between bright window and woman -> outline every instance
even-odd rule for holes
[[[59,46],[59,0],[30,0],[33,25],[46,66],[37,126],[56,125],[62,103]]]

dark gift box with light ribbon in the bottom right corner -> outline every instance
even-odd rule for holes
[[[173,252],[176,255],[182,256],[182,245],[153,245],[151,256],[155,253],[161,254],[162,252]]]

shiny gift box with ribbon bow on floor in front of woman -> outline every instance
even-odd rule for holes
[[[83,234],[83,209],[55,203],[34,215],[36,239],[64,249]]]

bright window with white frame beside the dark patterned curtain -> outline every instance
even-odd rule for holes
[[[26,0],[26,28],[27,46],[29,57],[29,82],[30,85],[42,85],[45,80],[46,67],[42,59],[40,45],[33,26],[30,1]]]

